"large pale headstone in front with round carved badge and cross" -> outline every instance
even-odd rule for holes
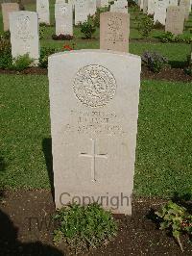
[[[140,71],[140,57],[126,53],[49,57],[57,208],[97,201],[114,213],[132,214]]]

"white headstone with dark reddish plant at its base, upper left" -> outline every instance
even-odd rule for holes
[[[71,4],[56,4],[56,35],[73,36],[73,9]]]

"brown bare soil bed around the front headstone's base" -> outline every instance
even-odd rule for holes
[[[80,255],[192,255],[192,243],[181,237],[184,252],[153,221],[154,210],[164,201],[137,199],[132,203],[132,217],[115,216],[118,236],[108,245]],[[4,192],[0,202],[0,255],[54,256],[74,255],[65,244],[53,244],[55,212],[50,191]]]

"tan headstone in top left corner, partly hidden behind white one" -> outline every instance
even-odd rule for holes
[[[17,3],[3,3],[1,4],[1,7],[2,7],[4,31],[8,31],[10,30],[9,13],[18,12],[19,5]]]

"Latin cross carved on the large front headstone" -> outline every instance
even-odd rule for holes
[[[81,153],[80,156],[81,157],[87,157],[91,159],[91,180],[93,182],[96,182],[96,178],[95,178],[95,160],[96,158],[104,158],[104,159],[108,159],[108,154],[96,154],[96,150],[95,150],[95,140],[90,139],[91,141],[91,153]]]

